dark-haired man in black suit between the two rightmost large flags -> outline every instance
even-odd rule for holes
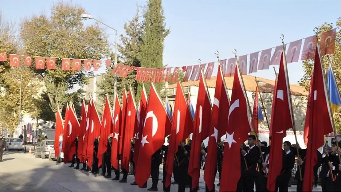
[[[295,156],[294,153],[291,152],[290,147],[291,143],[289,141],[285,141],[283,143],[282,169],[281,174],[276,178],[275,191],[288,191],[289,180],[291,178],[291,169],[295,164]]]

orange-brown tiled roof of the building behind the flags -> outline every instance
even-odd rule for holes
[[[227,89],[232,89],[234,77],[225,77],[225,83]],[[246,91],[255,91],[256,89],[256,82],[255,77],[252,75],[243,75],[244,84]],[[207,87],[215,88],[216,87],[216,80],[217,76],[211,77],[210,80],[206,80]],[[257,77],[258,86],[261,92],[264,93],[273,93],[275,89],[275,81]],[[190,87],[190,86],[199,86],[199,81],[189,81],[189,82],[182,82],[183,87]],[[176,88],[176,84],[168,85],[168,89]],[[308,96],[308,92],[305,88],[299,86],[298,84],[290,85],[291,94],[292,95],[304,95]]]

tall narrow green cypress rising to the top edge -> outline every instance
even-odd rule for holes
[[[166,29],[165,17],[161,0],[148,0],[143,15],[143,35],[139,60],[141,67],[162,68],[163,67],[163,42],[170,30]],[[139,83],[137,96],[141,95],[142,84]],[[162,95],[161,90],[164,83],[156,83],[155,87]],[[145,83],[146,92],[149,95],[150,83]]]

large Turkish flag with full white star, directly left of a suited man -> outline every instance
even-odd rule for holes
[[[248,139],[248,133],[252,131],[246,94],[238,67],[238,65],[235,67],[231,105],[227,116],[225,158],[221,174],[221,180],[228,182],[220,183],[221,192],[236,191],[240,179],[240,145]]]

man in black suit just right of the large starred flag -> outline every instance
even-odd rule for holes
[[[248,192],[253,192],[254,184],[257,179],[257,172],[259,171],[259,165],[257,164],[260,157],[260,149],[256,147],[256,137],[254,135],[249,135],[248,139],[249,147],[241,150],[243,158],[245,158],[247,170],[243,175],[244,179],[244,190]],[[245,163],[245,162],[244,162]]]

